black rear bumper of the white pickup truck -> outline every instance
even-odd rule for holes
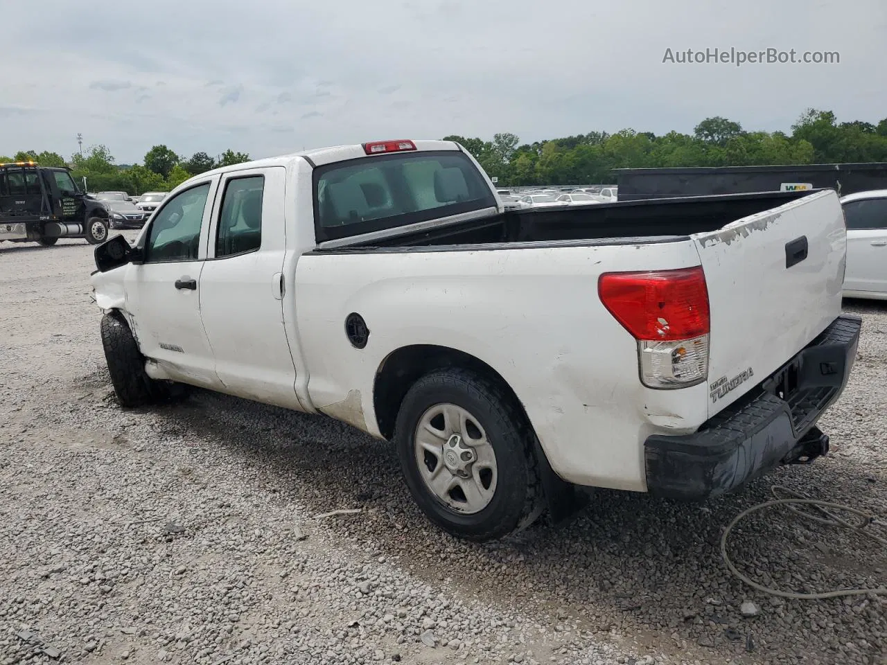
[[[686,500],[737,489],[774,466],[828,450],[814,425],[835,402],[860,341],[859,317],[831,325],[762,383],[695,434],[654,434],[644,445],[651,494]]]

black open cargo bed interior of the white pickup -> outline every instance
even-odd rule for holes
[[[589,206],[510,210],[480,220],[431,231],[406,232],[386,239],[357,242],[328,250],[335,253],[371,248],[489,245],[604,240],[608,244],[686,238],[717,231],[728,223],[755,215],[812,192],[764,192],[679,199],[636,200]]]

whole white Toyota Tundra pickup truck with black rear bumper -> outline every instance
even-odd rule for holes
[[[483,541],[577,486],[703,499],[828,450],[845,251],[831,191],[505,211],[458,144],[383,141],[192,177],[91,283],[123,406],[324,413]]]

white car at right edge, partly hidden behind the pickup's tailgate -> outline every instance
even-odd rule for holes
[[[841,199],[847,223],[844,296],[887,300],[887,190]]]

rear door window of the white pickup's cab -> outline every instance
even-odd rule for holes
[[[262,246],[264,176],[232,178],[225,184],[216,228],[216,258],[255,252]]]

